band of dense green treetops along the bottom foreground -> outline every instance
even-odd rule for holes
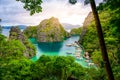
[[[83,68],[70,56],[43,55],[36,62],[13,54],[0,56],[0,72],[0,80],[98,80],[100,76],[99,71]]]

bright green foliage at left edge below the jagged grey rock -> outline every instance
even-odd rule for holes
[[[23,56],[25,51],[25,46],[19,40],[7,40],[5,36],[0,34],[1,58],[18,58]]]

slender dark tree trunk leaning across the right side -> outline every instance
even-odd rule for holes
[[[96,24],[96,28],[97,28],[97,32],[98,32],[99,43],[100,43],[101,52],[102,52],[102,58],[103,58],[103,61],[104,61],[104,65],[105,65],[105,69],[106,69],[106,72],[107,72],[107,75],[108,75],[108,79],[109,80],[114,80],[113,72],[112,72],[110,62],[109,62],[109,59],[108,59],[108,54],[107,54],[107,50],[106,50],[106,46],[105,46],[105,41],[104,41],[104,37],[103,37],[103,33],[102,33],[100,20],[99,20],[98,13],[97,13],[97,10],[96,10],[95,1],[90,0],[90,4],[91,4],[92,12],[93,12],[93,15],[94,15],[94,18],[95,18],[95,24]]]

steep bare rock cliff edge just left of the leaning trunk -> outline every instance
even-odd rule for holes
[[[80,39],[79,39],[79,43],[82,42],[83,38],[84,38],[84,35],[86,34],[86,31],[87,31],[87,27],[90,25],[90,23],[93,21],[93,13],[90,12],[88,14],[88,16],[85,18],[85,21],[83,23],[83,29],[82,29],[82,33],[80,35]]]

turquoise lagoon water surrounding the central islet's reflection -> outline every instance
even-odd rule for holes
[[[49,56],[73,56],[75,57],[75,47],[66,46],[67,44],[73,44],[75,41],[78,41],[79,36],[72,36],[63,42],[41,42],[37,43],[34,38],[30,38],[30,41],[35,45],[37,49],[36,56],[32,58],[33,61],[36,61],[39,59],[41,55],[49,55]],[[72,54],[67,54],[72,53]],[[85,59],[82,60],[76,58],[76,62],[80,63],[82,66],[86,67],[88,65],[87,62],[85,62]]]

